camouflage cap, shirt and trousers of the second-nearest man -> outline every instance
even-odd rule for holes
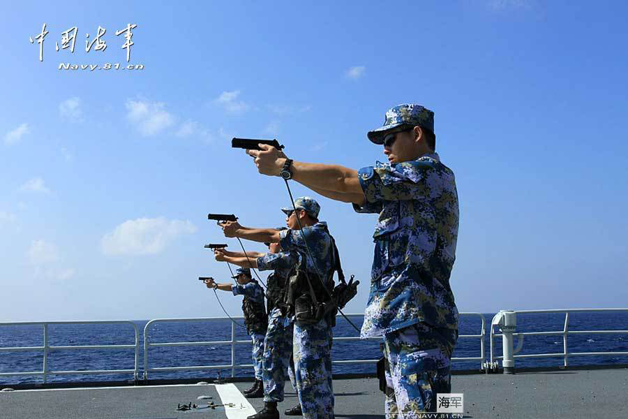
[[[312,198],[294,200],[297,208],[302,208],[313,218],[318,218],[320,205]],[[288,214],[292,208],[282,208]],[[317,281],[315,274],[324,278],[334,269],[334,247],[327,230],[327,223],[319,221],[301,230],[283,230],[281,249],[299,253],[311,281]],[[312,252],[308,255],[305,240]],[[315,264],[315,265],[314,265]],[[299,325],[294,322],[293,356],[294,376],[297,381],[299,402],[306,419],[334,418],[334,388],[331,382],[331,326],[327,320],[312,325]]]

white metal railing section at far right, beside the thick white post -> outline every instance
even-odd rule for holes
[[[628,352],[625,351],[604,351],[604,352],[569,352],[567,337],[569,335],[625,335],[628,334],[628,330],[569,330],[569,314],[576,312],[608,312],[608,311],[622,311],[628,312],[628,309],[562,309],[562,310],[519,310],[519,311],[500,311],[500,313],[496,314],[491,321],[491,333],[490,333],[490,341],[491,341],[491,363],[493,360],[502,360],[502,365],[504,365],[504,372],[506,372],[505,366],[514,369],[514,361],[517,358],[554,358],[554,357],[562,357],[565,367],[569,366],[568,358],[570,356],[616,356],[616,355],[628,355]],[[505,324],[496,324],[496,322],[500,321],[500,314],[514,314],[514,324],[513,325],[505,325]],[[516,328],[516,315],[517,314],[537,314],[537,313],[565,313],[565,325],[562,330],[553,330],[548,332],[514,332]],[[502,328],[502,333],[496,334],[494,333],[493,326],[497,325]],[[525,336],[562,336],[562,352],[560,353],[529,353],[525,355],[516,355],[523,348],[523,339]],[[503,353],[502,356],[493,356],[493,337],[501,337],[502,338],[502,346]],[[513,348],[513,337],[517,337],[517,346]]]

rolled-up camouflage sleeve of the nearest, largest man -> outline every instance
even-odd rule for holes
[[[428,180],[434,172],[430,163],[408,161],[390,166],[378,164],[358,171],[360,186],[366,196],[366,205],[357,207],[357,212],[376,212],[380,201],[423,200],[430,193]]]

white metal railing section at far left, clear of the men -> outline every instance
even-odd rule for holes
[[[48,344],[49,325],[90,325],[90,324],[124,324],[132,325],[135,331],[135,344],[133,345],[73,345],[73,346],[50,346]],[[67,375],[67,374],[126,374],[133,373],[133,378],[137,380],[139,376],[139,362],[138,355],[140,354],[140,331],[137,329],[137,325],[132,321],[47,321],[47,322],[15,322],[15,323],[0,323],[1,326],[27,326],[27,325],[41,325],[43,326],[43,346],[6,346],[0,348],[1,352],[13,352],[13,351],[43,351],[43,369],[41,371],[29,371],[29,372],[2,372],[0,376],[42,376],[43,382],[47,382],[47,376],[49,375]],[[134,348],[135,349],[135,367],[134,369],[91,369],[84,371],[50,371],[48,369],[48,354],[50,351],[61,350],[80,350],[80,349],[122,349],[122,348]]]

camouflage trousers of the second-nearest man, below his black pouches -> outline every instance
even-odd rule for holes
[[[294,375],[305,419],[334,418],[331,338],[324,319],[313,325],[294,323]]]

